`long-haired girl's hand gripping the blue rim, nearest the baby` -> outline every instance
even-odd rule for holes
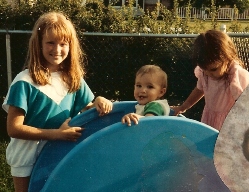
[[[110,113],[113,107],[113,103],[110,100],[100,96],[95,99],[93,104],[100,116]]]

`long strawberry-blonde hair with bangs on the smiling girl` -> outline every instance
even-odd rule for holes
[[[31,38],[25,67],[29,69],[32,80],[39,85],[49,84],[50,72],[42,54],[42,38],[50,31],[58,40],[69,44],[67,58],[60,64],[62,79],[69,92],[80,87],[80,79],[84,76],[83,52],[73,23],[62,13],[48,12],[36,21]]]

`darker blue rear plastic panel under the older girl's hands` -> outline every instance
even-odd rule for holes
[[[104,127],[120,122],[123,115],[134,112],[136,104],[136,101],[114,102],[113,110],[108,115],[99,117],[93,108],[72,118],[69,125],[85,128],[82,136],[77,142],[48,141],[45,144],[33,168],[29,192],[40,191],[54,168],[81,141]]]

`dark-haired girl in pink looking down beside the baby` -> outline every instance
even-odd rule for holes
[[[194,42],[193,62],[197,85],[186,101],[173,107],[175,115],[185,112],[203,96],[201,121],[217,130],[249,83],[249,73],[238,57],[232,39],[224,32],[208,30]]]

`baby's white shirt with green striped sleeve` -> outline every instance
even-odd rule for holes
[[[166,99],[152,101],[146,105],[137,104],[135,108],[136,114],[143,116],[146,114],[153,114],[155,116],[168,116],[170,113],[170,107]]]

